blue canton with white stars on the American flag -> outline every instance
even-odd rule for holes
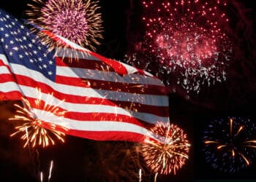
[[[0,54],[10,63],[17,63],[44,74],[55,81],[56,62],[53,52],[40,42],[38,36],[12,15],[0,9]]]

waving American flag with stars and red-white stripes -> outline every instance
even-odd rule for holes
[[[63,40],[79,60],[70,61],[67,51],[48,52],[26,23],[0,9],[0,99],[33,103],[40,89],[46,102],[53,93],[51,104],[67,111],[53,124],[99,141],[141,142],[151,137],[149,127],[169,123],[167,91],[159,79]],[[58,120],[36,113],[46,123]]]

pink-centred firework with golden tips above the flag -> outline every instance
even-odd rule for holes
[[[89,50],[96,50],[94,45],[99,45],[98,40],[102,39],[102,19],[97,12],[97,4],[98,1],[90,0],[33,0],[26,15],[37,26],[32,30],[48,45],[49,50],[70,47],[66,47],[64,41],[53,41],[47,32],[55,33]]]

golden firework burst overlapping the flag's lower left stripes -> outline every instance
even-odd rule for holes
[[[58,106],[52,105],[53,94],[48,94],[46,101],[42,99],[42,92],[37,90],[38,98],[34,100],[34,103],[30,103],[26,98],[22,98],[23,107],[15,104],[17,108],[16,115],[13,118],[10,118],[11,121],[22,122],[18,127],[15,127],[16,132],[10,135],[11,137],[20,133],[23,133],[21,139],[26,141],[23,147],[30,146],[42,146],[46,147],[49,145],[54,145],[54,138],[57,138],[59,141],[64,142],[64,132],[56,130],[57,125],[49,122],[44,122],[41,119],[37,118],[39,115],[41,118],[44,117],[46,120],[59,119],[64,116],[66,111],[60,111]],[[58,126],[61,130],[66,130],[65,127]]]

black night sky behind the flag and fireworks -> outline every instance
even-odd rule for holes
[[[27,1],[2,0],[0,8],[25,18]],[[190,98],[182,90],[170,93],[170,121],[187,132],[192,147],[189,160],[177,175],[159,175],[159,182],[256,180],[256,158],[241,172],[226,174],[212,169],[205,162],[201,149],[203,129],[211,119],[249,116],[256,122],[256,8],[252,0],[230,1],[235,55],[227,71],[227,81],[203,87],[198,95],[190,95]],[[100,0],[99,6],[104,39],[97,53],[122,60],[142,33],[140,1]],[[40,172],[44,173],[44,181],[48,181],[51,160],[54,166],[50,181],[53,182],[139,181],[140,168],[143,168],[142,181],[154,181],[154,174],[146,169],[141,156],[133,150],[136,143],[91,141],[67,135],[65,143],[56,143],[47,149],[23,149],[23,141],[10,138],[14,126],[8,118],[15,111],[13,103],[19,102],[0,102],[0,181],[40,181]]]

